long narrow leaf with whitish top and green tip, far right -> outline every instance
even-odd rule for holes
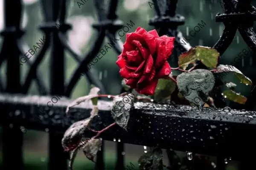
[[[232,65],[219,65],[217,67],[217,70],[215,71],[215,73],[223,72],[233,72],[233,74],[240,80],[240,82],[246,85],[253,85],[253,82],[248,77],[244,76],[244,74],[242,74],[242,72],[239,71],[239,69]]]

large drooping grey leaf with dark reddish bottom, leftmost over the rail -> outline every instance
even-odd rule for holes
[[[91,116],[87,119],[80,120],[73,123],[64,133],[61,144],[67,151],[74,150],[79,146],[79,142],[84,135],[84,131],[90,126],[91,120],[99,112],[97,107],[94,107],[91,111]]]

